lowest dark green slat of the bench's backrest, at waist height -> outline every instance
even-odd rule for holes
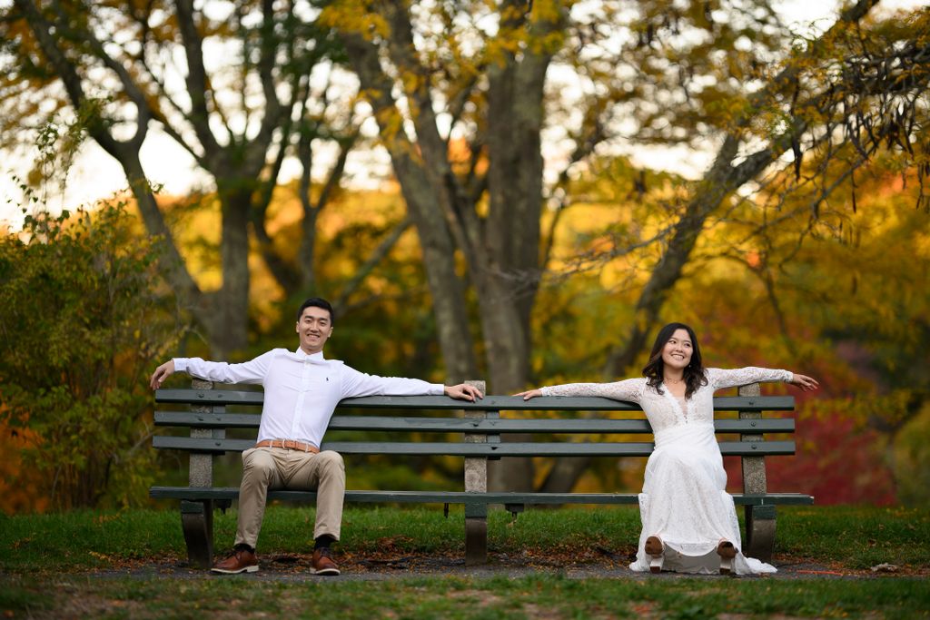
[[[193,452],[243,452],[254,440],[155,436],[156,448]],[[324,450],[343,455],[450,456],[648,456],[652,442],[324,442]],[[794,442],[720,442],[724,455],[793,455]]]

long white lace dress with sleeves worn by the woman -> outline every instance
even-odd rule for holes
[[[787,370],[708,368],[707,385],[686,400],[672,396],[664,385],[659,394],[648,387],[644,377],[616,383],[570,383],[541,391],[545,396],[603,396],[638,402],[643,407],[656,438],[656,450],[645,466],[643,493],[639,495],[643,531],[631,570],[649,570],[645,539],[656,535],[665,544],[665,570],[717,573],[717,544],[726,539],[740,549],[734,562],[737,574],[775,573],[774,566],[741,552],[737,510],[733,497],[726,493],[724,459],[713,432],[713,392],[791,378]]]

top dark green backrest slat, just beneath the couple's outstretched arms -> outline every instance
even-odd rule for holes
[[[261,391],[233,389],[158,389],[155,402],[208,405],[260,405]],[[717,411],[790,411],[793,396],[718,396],[713,399]],[[597,397],[542,396],[524,401],[519,396],[487,396],[476,402],[458,401],[448,396],[365,396],[344,399],[340,408],[436,409],[470,411],[642,411],[633,402]]]

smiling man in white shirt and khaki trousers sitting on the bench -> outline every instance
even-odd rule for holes
[[[265,391],[259,437],[242,455],[239,519],[233,553],[213,566],[216,573],[254,573],[255,554],[268,490],[316,490],[316,540],[312,566],[315,574],[339,574],[330,546],[339,540],[345,468],[336,452],[320,452],[323,435],[336,405],[344,398],[390,394],[415,396],[446,394],[474,401],[482,398],[473,386],[444,386],[419,379],[365,375],[337,360],[323,357],[323,346],[333,333],[333,309],[326,299],[307,299],[298,310],[296,351],[270,350],[246,363],[205,362],[174,358],[153,373],[152,389],[167,376],[186,372],[221,383],[257,383]]]

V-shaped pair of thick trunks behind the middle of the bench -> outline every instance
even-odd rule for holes
[[[464,190],[450,165],[448,145],[436,122],[432,74],[417,57],[405,5],[385,4],[382,17],[389,26],[384,37],[386,51],[402,77],[400,84],[416,129],[415,143],[405,134],[405,117],[391,96],[398,85],[382,71],[377,44],[360,33],[342,34],[363,90],[372,101],[382,142],[392,155],[394,174],[420,234],[446,363],[450,362],[447,346],[457,350],[451,355],[465,354],[458,352],[462,341],[455,338],[457,332],[468,329],[465,317],[457,316],[449,320],[449,333],[444,334],[440,308],[450,298],[464,298],[463,284],[451,260],[458,246],[477,294],[486,378],[490,389],[498,393],[526,385],[530,315],[538,288],[543,84],[554,53],[550,35],[563,25],[564,18],[558,3],[539,4],[541,7],[529,7],[529,11],[518,2],[505,2],[499,7],[502,17],[498,43],[516,45],[526,34],[530,40],[519,59],[515,51],[505,52],[500,64],[491,63],[488,73],[489,127],[485,143],[490,162],[490,208],[485,221],[475,208],[479,197]],[[509,45],[502,48],[508,49]],[[454,339],[450,342],[449,337]],[[467,343],[471,357],[471,338]],[[492,468],[489,481],[492,488],[529,490],[533,478],[530,459],[509,459],[505,466]]]

